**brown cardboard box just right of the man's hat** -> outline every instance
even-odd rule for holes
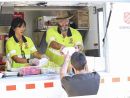
[[[89,27],[89,12],[88,10],[77,10],[72,20],[76,23],[78,28]]]

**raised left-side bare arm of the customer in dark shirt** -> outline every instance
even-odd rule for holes
[[[67,69],[69,67],[69,63],[70,63],[70,56],[67,54],[65,57],[65,61],[60,69],[60,78],[62,79],[64,76],[66,76],[67,74]]]

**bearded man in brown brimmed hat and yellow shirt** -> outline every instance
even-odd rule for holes
[[[61,66],[64,56],[61,51],[65,47],[75,47],[83,50],[83,41],[81,34],[76,29],[69,26],[69,20],[73,16],[69,16],[67,11],[57,12],[58,26],[49,28],[46,32],[46,42],[48,44],[46,55],[55,64]]]

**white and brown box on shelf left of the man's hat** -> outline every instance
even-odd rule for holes
[[[56,16],[41,16],[41,17],[38,17],[38,27],[37,27],[38,30],[47,29],[50,26],[56,25],[54,18],[56,18]]]

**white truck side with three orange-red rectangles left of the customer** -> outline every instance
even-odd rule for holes
[[[58,74],[40,74],[0,79],[1,98],[64,98]]]

